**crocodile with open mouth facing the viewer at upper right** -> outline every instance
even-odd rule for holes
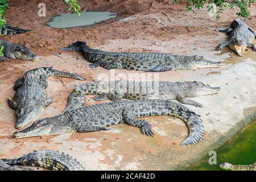
[[[226,32],[229,35],[229,40],[220,43],[217,51],[221,51],[224,46],[229,46],[238,56],[243,56],[247,46],[252,47],[253,51],[256,51],[256,45],[253,44],[256,31],[247,26],[245,19],[237,18],[232,22],[231,28],[220,31]]]

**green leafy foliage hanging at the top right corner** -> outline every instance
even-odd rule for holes
[[[179,0],[175,0],[175,2],[179,2]],[[208,2],[208,0],[188,0],[192,5],[187,6],[187,11],[191,11],[192,7],[195,7],[196,9],[201,9],[204,7],[205,3]],[[242,16],[244,18],[248,18],[251,13],[248,10],[248,7],[255,3],[255,0],[210,0],[208,7],[208,11],[210,13],[216,13],[216,18],[221,18],[221,13],[223,13],[226,9],[234,9],[237,10],[237,15]],[[214,12],[214,7],[217,7],[217,11]]]

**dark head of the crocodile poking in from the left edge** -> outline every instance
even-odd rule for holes
[[[10,51],[11,59],[22,59],[28,61],[38,61],[39,56],[34,55],[29,48],[23,45],[15,44]]]

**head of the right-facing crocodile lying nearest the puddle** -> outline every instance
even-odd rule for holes
[[[221,62],[212,62],[204,59],[203,56],[195,55],[192,57],[191,67],[192,69],[197,68],[218,68],[221,67]]]

